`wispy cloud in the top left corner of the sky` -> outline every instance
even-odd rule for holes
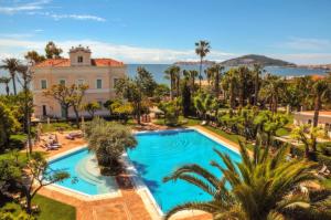
[[[18,12],[28,12],[43,9],[43,6],[49,3],[49,0],[34,1],[30,3],[21,3],[9,7],[0,7],[0,13],[13,14]]]

